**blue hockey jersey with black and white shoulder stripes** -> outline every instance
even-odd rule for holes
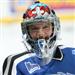
[[[3,75],[75,75],[75,49],[58,48],[46,65],[33,52],[23,52],[6,58]]]

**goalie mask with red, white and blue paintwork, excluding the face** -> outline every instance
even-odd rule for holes
[[[47,38],[33,39],[29,27],[40,24],[51,25],[52,33]],[[39,58],[53,57],[60,28],[59,19],[54,10],[46,4],[35,2],[24,13],[21,27],[24,44],[28,50],[33,50]],[[35,33],[36,29],[31,31]]]

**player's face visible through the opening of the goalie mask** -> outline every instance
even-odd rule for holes
[[[51,23],[45,23],[45,22],[40,22],[37,23],[36,25],[31,25],[28,27],[29,33],[32,39],[48,39],[53,30],[52,30],[52,24]]]

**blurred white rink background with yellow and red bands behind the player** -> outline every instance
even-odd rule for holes
[[[4,59],[25,51],[22,44],[21,22],[26,9],[37,0],[0,0],[0,71]],[[60,18],[59,43],[75,47],[75,0],[38,0],[53,8]]]

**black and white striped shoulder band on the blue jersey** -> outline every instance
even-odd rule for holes
[[[32,57],[33,55],[34,55],[33,52],[27,51],[8,56],[3,63],[3,68],[2,68],[3,75],[11,75],[14,64],[18,64],[22,60]]]

